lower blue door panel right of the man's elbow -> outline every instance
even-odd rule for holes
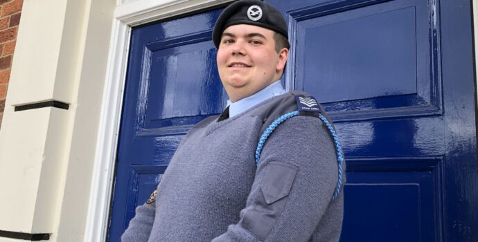
[[[341,241],[441,241],[443,157],[348,158]]]

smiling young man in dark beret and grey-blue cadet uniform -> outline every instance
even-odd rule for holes
[[[228,107],[188,132],[122,241],[338,241],[342,151],[317,101],[279,81],[281,13],[232,3],[213,41]]]

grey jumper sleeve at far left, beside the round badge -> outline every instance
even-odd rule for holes
[[[156,193],[154,189],[146,203],[136,207],[136,214],[121,236],[122,242],[142,242],[150,239],[154,214],[156,214]]]

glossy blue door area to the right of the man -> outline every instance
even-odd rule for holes
[[[470,1],[267,2],[344,148],[341,241],[478,241]]]

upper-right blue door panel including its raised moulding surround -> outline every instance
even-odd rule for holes
[[[315,93],[336,121],[440,114],[438,63],[430,61],[439,48],[430,36],[435,8],[423,0],[343,2],[288,10],[294,87]]]

